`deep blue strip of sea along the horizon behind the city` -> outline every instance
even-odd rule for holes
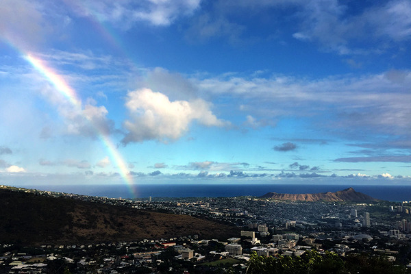
[[[136,184],[23,186],[80,195],[111,198],[144,197],[236,197],[262,196],[266,192],[318,193],[353,187],[356,191],[388,201],[411,201],[411,186],[308,185],[308,184]]]

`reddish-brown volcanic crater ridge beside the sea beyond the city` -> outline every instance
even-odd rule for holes
[[[377,201],[377,199],[347,188],[336,192],[288,194],[268,192],[260,198],[270,198],[283,201]]]

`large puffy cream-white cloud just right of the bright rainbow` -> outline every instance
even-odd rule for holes
[[[129,92],[126,106],[132,120],[124,123],[128,130],[122,140],[124,145],[144,140],[177,140],[188,132],[192,121],[210,127],[227,125],[212,114],[210,103],[202,99],[170,101],[166,95],[148,88]]]

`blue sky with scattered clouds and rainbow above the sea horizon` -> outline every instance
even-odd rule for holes
[[[0,183],[411,183],[410,1],[3,0]]]

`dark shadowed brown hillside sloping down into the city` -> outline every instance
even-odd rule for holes
[[[0,190],[0,242],[79,243],[239,232],[192,216]]]

